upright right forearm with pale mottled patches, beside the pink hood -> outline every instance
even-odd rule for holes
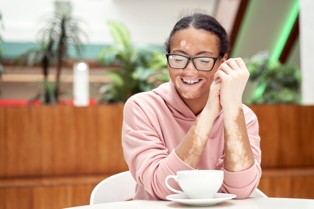
[[[254,164],[242,105],[224,108],[224,168],[239,172]]]

